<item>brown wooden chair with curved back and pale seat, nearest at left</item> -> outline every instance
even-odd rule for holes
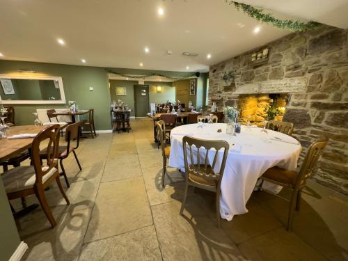
[[[2,174],[3,185],[5,187],[8,200],[24,198],[35,194],[40,205],[45,212],[52,228],[56,226],[56,220],[49,209],[45,197],[45,189],[56,180],[58,188],[61,191],[66,203],[70,201],[65,195],[61,180],[58,175],[58,144],[59,144],[59,125],[52,125],[43,129],[31,144],[31,160],[33,166],[19,166],[10,169]],[[42,165],[40,159],[40,145],[43,141],[48,142],[47,164]],[[51,153],[53,152],[53,153]]]

